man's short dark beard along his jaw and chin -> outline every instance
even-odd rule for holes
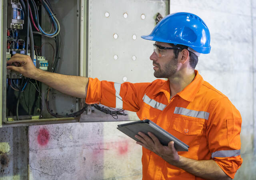
[[[172,77],[178,68],[178,60],[176,58],[172,58],[169,62],[160,67],[160,64],[153,62],[158,66],[157,70],[154,72],[154,76],[156,78],[169,78]]]

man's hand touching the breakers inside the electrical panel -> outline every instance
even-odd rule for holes
[[[24,54],[14,54],[7,64],[9,65],[7,69],[16,71],[27,78],[35,78],[38,74],[38,69],[34,66],[30,56]]]

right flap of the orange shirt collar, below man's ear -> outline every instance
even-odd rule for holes
[[[182,99],[189,102],[194,100],[196,93],[204,83],[204,79],[197,70],[195,70],[195,75],[194,80],[192,80],[192,82],[190,82],[190,84],[188,84],[188,86],[186,86],[181,92],[177,93]]]

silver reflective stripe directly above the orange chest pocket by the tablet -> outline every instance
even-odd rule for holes
[[[185,116],[202,118],[202,119],[206,119],[206,120],[208,120],[208,118],[209,118],[209,112],[195,111],[195,110],[190,110],[190,109],[180,108],[180,107],[175,107],[174,114],[182,114]]]

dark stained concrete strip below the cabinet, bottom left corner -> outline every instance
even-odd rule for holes
[[[0,128],[0,179],[28,179],[28,128]]]

